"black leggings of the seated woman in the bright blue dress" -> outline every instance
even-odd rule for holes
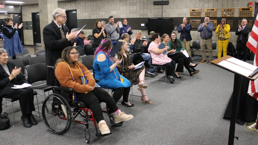
[[[128,96],[130,93],[131,87],[120,87],[120,88],[116,88],[114,93],[113,93],[113,98],[116,101],[116,103],[120,100],[120,98],[123,95],[123,101],[124,102],[128,102]]]

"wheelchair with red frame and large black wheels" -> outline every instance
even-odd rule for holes
[[[53,66],[47,66],[49,68],[55,69]],[[71,88],[60,87],[59,82],[55,79],[56,85],[52,91],[53,94],[50,94],[46,97],[42,105],[42,118],[47,128],[55,134],[65,134],[71,127],[72,122],[85,125],[85,141],[90,143],[90,131],[89,121],[93,121],[96,137],[103,137],[106,135],[112,134],[101,134],[98,132],[98,128],[94,119],[94,115],[90,109],[82,102],[72,100],[73,92]],[[99,80],[95,79],[96,82]],[[64,92],[61,92],[64,91]],[[72,108],[72,109],[71,109]],[[109,116],[111,127],[122,126],[123,122],[115,123],[113,115],[109,113],[108,107],[106,110],[102,110],[103,113],[106,113]],[[89,114],[88,114],[89,113]],[[85,117],[84,122],[75,120],[78,115]]]

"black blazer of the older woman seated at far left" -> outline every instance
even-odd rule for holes
[[[10,72],[12,73],[12,70],[15,67],[15,64],[13,62],[7,62],[7,67]],[[10,79],[8,78],[9,75],[5,72],[4,68],[0,65],[0,98],[5,93],[10,93],[15,91],[15,89],[12,89],[13,85],[21,85],[26,82],[25,76],[20,71],[20,74],[16,76],[16,78]],[[1,101],[1,99],[0,99]]]

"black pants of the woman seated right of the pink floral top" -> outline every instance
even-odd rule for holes
[[[178,64],[178,66],[176,67],[176,72],[184,72],[184,67],[186,67],[188,72],[191,72],[191,69],[189,67],[190,62],[182,52],[168,55],[168,57],[173,59]]]

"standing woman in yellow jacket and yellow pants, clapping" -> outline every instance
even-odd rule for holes
[[[230,25],[227,24],[227,19],[222,18],[221,24],[217,26],[217,29],[215,30],[215,33],[217,34],[216,37],[218,37],[218,58],[221,57],[222,49],[223,49],[223,56],[227,55],[227,48],[228,48],[228,42],[229,42],[229,30]]]

